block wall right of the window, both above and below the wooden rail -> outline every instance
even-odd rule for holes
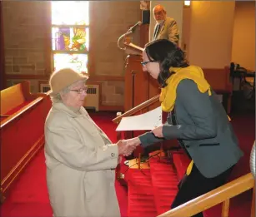
[[[93,1],[91,8],[91,42],[93,67],[96,76],[124,76],[125,57],[118,48],[118,37],[141,19],[138,1]],[[132,35],[139,43],[138,29]],[[103,106],[123,106],[124,81],[100,81]]]

